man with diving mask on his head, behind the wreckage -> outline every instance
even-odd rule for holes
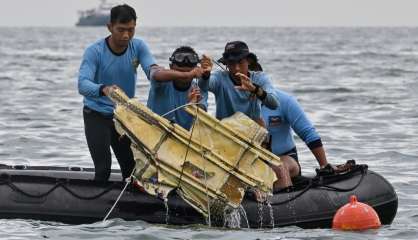
[[[183,128],[190,129],[192,116],[183,109],[175,109],[188,102],[200,102],[203,108],[207,108],[207,92],[201,93],[193,80],[200,78],[203,73],[202,68],[197,67],[199,56],[193,48],[183,46],[177,48],[169,60],[170,69],[157,66],[151,68],[147,106]],[[185,76],[180,77],[182,73]]]

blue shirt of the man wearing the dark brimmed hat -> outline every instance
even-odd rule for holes
[[[272,94],[274,88],[268,75],[263,72],[250,72],[250,79],[266,91],[263,104],[272,109],[277,108],[278,102]],[[250,93],[247,91],[235,89],[229,72],[213,72],[208,80],[199,79],[199,86],[202,90],[215,95],[216,118],[230,117],[236,112],[242,112],[253,120],[261,117],[262,101],[258,98],[250,98]]]

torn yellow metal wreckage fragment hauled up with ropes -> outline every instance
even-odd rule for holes
[[[172,189],[205,216],[212,204],[238,207],[245,190],[271,194],[276,176],[268,164],[280,159],[262,148],[266,130],[242,113],[217,120],[196,106],[192,128],[153,113],[116,89],[115,123],[132,141],[138,183],[150,194],[166,197]]]

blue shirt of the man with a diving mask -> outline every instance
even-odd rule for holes
[[[159,82],[154,79],[154,73],[161,69],[161,67],[153,67],[151,70],[151,88],[147,100],[147,106],[158,115],[164,115],[169,111],[176,109],[177,107],[183,106],[188,103],[188,93],[191,88],[196,84],[192,84],[187,89],[177,89],[174,86],[173,81]],[[201,90],[202,100],[200,104],[206,108],[208,106],[208,92]],[[179,109],[170,114],[164,116],[165,118],[174,121],[185,129],[190,129],[193,123],[193,118],[184,109]]]

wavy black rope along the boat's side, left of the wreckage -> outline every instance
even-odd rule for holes
[[[26,196],[26,197],[30,197],[30,198],[43,198],[48,196],[49,194],[51,194],[55,189],[61,187],[63,188],[66,192],[70,193],[72,196],[81,199],[81,200],[95,200],[101,196],[103,196],[104,194],[108,193],[109,191],[111,191],[114,188],[115,184],[112,184],[111,186],[109,186],[108,188],[106,188],[105,190],[103,190],[102,192],[96,194],[96,195],[92,195],[92,196],[82,196],[80,194],[75,193],[73,190],[71,190],[70,188],[68,188],[68,186],[66,186],[66,184],[62,181],[57,182],[52,188],[50,188],[49,190],[47,190],[44,193],[40,193],[40,194],[32,194],[29,193],[21,188],[19,188],[18,186],[16,186],[16,184],[14,184],[13,182],[11,182],[11,180],[6,180],[6,181],[0,181],[0,185],[8,185],[13,191],[19,192],[20,194]]]

